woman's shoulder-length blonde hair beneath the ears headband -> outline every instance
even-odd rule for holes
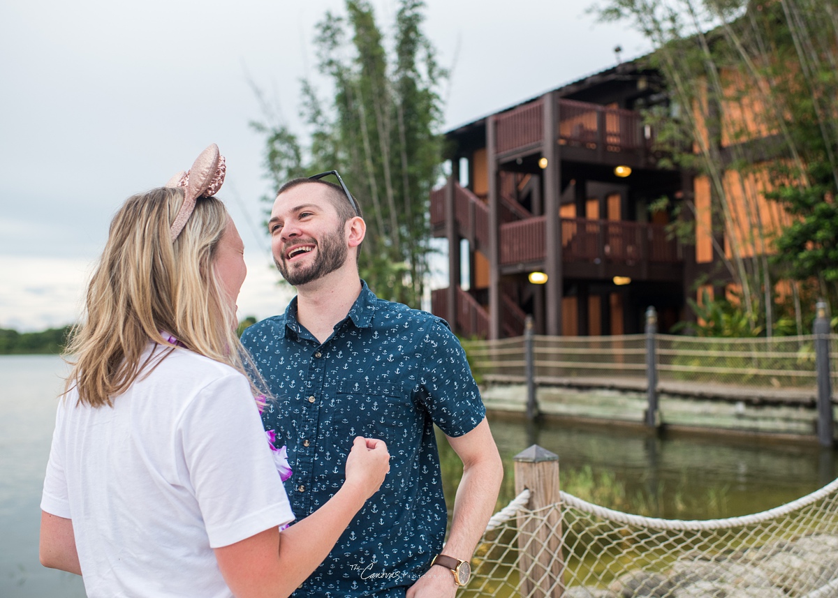
[[[65,393],[75,388],[81,404],[112,406],[138,376],[150,373],[159,360],[155,351],[142,358],[149,341],[173,350],[163,331],[190,351],[250,373],[214,267],[230,217],[218,199],[199,198],[172,242],[170,226],[183,202],[183,188],[152,189],[128,198],[111,220],[87,288],[85,317],[66,349],[73,367]]]

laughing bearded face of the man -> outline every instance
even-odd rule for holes
[[[345,226],[327,193],[323,185],[303,183],[273,203],[268,221],[273,261],[293,286],[316,281],[346,263]]]

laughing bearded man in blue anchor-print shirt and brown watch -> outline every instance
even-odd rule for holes
[[[297,518],[339,488],[354,436],[381,438],[391,453],[380,491],[295,596],[450,598],[468,580],[503,477],[463,348],[440,318],[380,300],[360,280],[366,225],[335,171],[286,183],[268,228],[297,297],[242,342],[277,398],[263,420],[287,445]],[[463,461],[444,549],[434,423]]]

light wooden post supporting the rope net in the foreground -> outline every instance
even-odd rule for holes
[[[530,490],[530,511],[518,517],[522,598],[561,598],[565,593],[561,551],[559,457],[533,445],[515,455],[515,495]],[[553,508],[547,508],[553,507]]]

